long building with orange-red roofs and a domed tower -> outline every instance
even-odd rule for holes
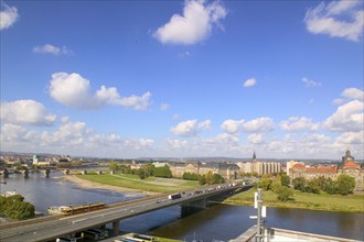
[[[345,174],[354,177],[355,191],[364,191],[364,169],[361,168],[360,164],[354,162],[354,157],[349,150],[345,152],[345,156],[342,157],[341,167],[338,165],[304,166],[300,163],[293,164],[290,168],[288,167],[289,164],[287,163],[287,175],[289,175],[291,179],[296,177],[312,179],[323,176],[334,180],[341,174]]]

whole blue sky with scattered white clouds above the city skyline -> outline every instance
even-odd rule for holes
[[[1,151],[364,158],[363,1],[1,0]]]

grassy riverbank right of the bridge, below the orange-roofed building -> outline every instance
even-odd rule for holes
[[[255,191],[256,189],[250,189],[249,191],[246,191],[244,194],[235,195],[226,199],[224,204],[253,206]],[[293,200],[282,202],[277,199],[277,195],[275,193],[272,193],[271,190],[267,190],[263,191],[263,204],[267,207],[299,208],[323,211],[364,212],[364,195],[315,195],[295,191]]]

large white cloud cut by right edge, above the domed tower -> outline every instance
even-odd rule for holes
[[[362,131],[364,129],[363,117],[364,102],[353,100],[339,106],[338,110],[325,120],[324,127],[331,131],[338,132]]]

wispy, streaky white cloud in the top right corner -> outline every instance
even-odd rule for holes
[[[306,28],[313,34],[329,34],[357,42],[363,35],[364,11],[360,0],[321,2],[309,9],[304,16]]]

